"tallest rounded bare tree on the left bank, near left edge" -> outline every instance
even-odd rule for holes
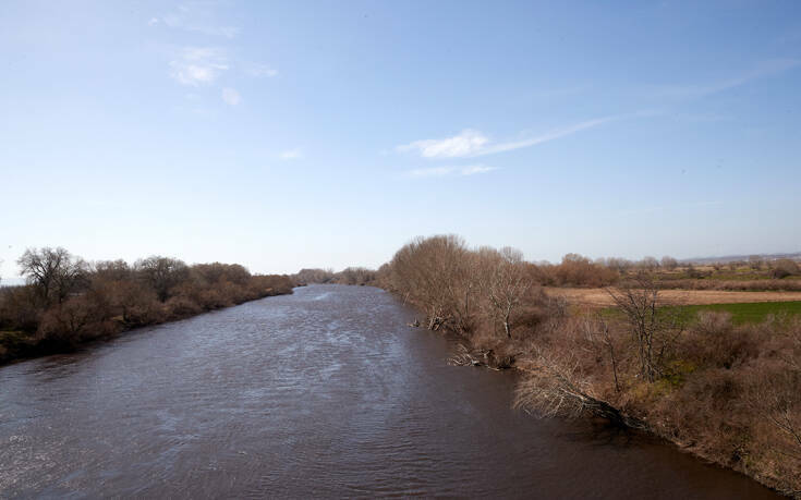
[[[61,304],[81,283],[86,263],[62,247],[28,248],[16,261],[46,305]]]

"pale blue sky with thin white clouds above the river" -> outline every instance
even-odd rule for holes
[[[4,278],[801,251],[793,0],[4,1],[0,69]]]

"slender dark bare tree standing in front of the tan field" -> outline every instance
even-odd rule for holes
[[[659,291],[653,279],[639,276],[621,289],[607,289],[623,313],[638,349],[640,375],[653,382],[662,374],[662,362],[683,328],[676,315],[660,310]]]

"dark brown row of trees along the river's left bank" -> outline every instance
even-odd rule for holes
[[[135,327],[269,295],[292,293],[287,276],[251,275],[238,264],[151,256],[87,263],[64,248],[28,249],[27,284],[0,289],[0,363],[62,352]]]

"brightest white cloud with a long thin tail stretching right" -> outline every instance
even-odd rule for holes
[[[536,146],[537,144],[572,135],[622,118],[624,118],[624,115],[586,120],[570,126],[551,130],[545,134],[527,136],[520,139],[509,139],[499,143],[490,141],[486,135],[478,131],[469,129],[452,137],[415,141],[410,144],[398,146],[396,150],[399,153],[417,153],[423,158],[471,158]]]

